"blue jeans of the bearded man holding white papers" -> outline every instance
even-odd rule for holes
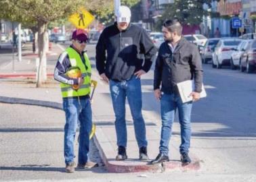
[[[179,124],[181,129],[182,144],[179,146],[181,154],[188,153],[190,148],[191,126],[190,117],[192,102],[182,103],[179,94],[163,94],[161,96],[161,141],[159,150],[168,156],[171,127],[175,119],[175,111],[179,111]]]

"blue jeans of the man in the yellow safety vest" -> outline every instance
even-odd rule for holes
[[[66,115],[64,127],[65,163],[74,161],[74,137],[80,122],[79,164],[87,162],[89,152],[89,133],[91,132],[91,102],[89,98],[63,98],[63,109]]]

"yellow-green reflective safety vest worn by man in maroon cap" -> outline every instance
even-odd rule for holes
[[[85,57],[85,64],[84,64],[79,53],[77,53],[77,51],[75,51],[71,47],[68,47],[68,49],[66,49],[66,52],[68,53],[70,65],[72,67],[77,66],[80,68],[84,82],[83,82],[83,85],[80,86],[78,90],[74,90],[72,86],[69,84],[60,83],[60,88],[62,90],[62,97],[65,98],[65,97],[72,97],[72,96],[85,96],[89,94],[91,91],[91,87],[90,87],[91,64],[90,64],[89,58],[86,53],[83,54],[83,56]],[[87,66],[87,69],[85,65]]]

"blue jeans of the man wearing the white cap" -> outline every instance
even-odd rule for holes
[[[127,147],[127,128],[125,122],[126,97],[133,117],[137,145],[139,147],[148,146],[145,121],[142,117],[142,86],[140,79],[133,76],[130,80],[122,82],[110,80],[110,93],[114,115],[116,117],[114,125],[116,128],[117,146]]]

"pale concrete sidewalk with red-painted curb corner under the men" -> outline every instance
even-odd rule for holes
[[[58,59],[59,53],[62,52],[60,47],[53,44],[52,53],[54,55],[47,56],[47,73],[49,80],[42,88],[35,88],[35,57],[27,53],[21,62],[16,62],[15,72],[12,72],[12,64],[0,67],[0,102],[11,102],[20,104],[35,104],[45,107],[53,107],[62,109],[62,98],[58,82],[52,78],[54,66]],[[24,54],[25,54],[24,53]],[[88,53],[89,57],[93,57],[94,53]],[[92,67],[95,62],[91,61]],[[117,154],[116,135],[114,129],[114,113],[110,99],[108,86],[100,81],[98,72],[93,68],[92,79],[98,81],[98,88],[95,90],[93,98],[93,122],[96,124],[96,133],[93,138],[106,169],[110,173],[133,173],[133,172],[162,172],[173,170],[198,170],[200,162],[196,156],[190,154],[192,163],[182,166],[179,160],[179,135],[173,135],[170,142],[170,162],[163,164],[148,165],[147,162],[140,162],[139,149],[135,140],[133,121],[127,106],[127,133],[128,160],[114,160]],[[146,92],[146,91],[145,91]],[[146,131],[148,138],[148,155],[150,160],[154,159],[158,154],[158,146],[160,140],[161,122],[152,111],[143,111],[146,121]]]

